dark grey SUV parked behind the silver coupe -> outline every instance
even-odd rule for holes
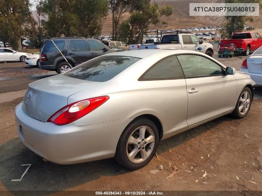
[[[63,73],[76,65],[84,63],[90,59],[116,52],[111,50],[96,39],[87,39],[84,37],[54,37],[52,38],[69,64],[56,49],[51,40],[46,40],[40,50],[40,69],[53,70],[57,73]]]

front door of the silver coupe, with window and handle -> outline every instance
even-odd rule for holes
[[[226,113],[235,107],[238,88],[233,75],[225,75],[218,63],[202,55],[181,54],[177,58],[186,78],[188,126]]]

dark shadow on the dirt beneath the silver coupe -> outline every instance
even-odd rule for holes
[[[175,148],[227,120],[232,121],[233,119],[227,116],[221,117],[168,138],[160,142],[158,154]],[[13,194],[16,195],[22,193],[16,190],[59,191],[99,179],[100,176],[117,176],[132,172],[121,167],[114,159],[74,165],[45,163],[24,146],[19,138],[12,139],[0,146],[0,152],[0,180],[8,190],[13,191]],[[27,166],[20,166],[22,164],[32,164],[32,166],[21,181],[11,181],[12,179],[20,179],[24,173]],[[43,195],[44,192],[39,191],[37,194]]]

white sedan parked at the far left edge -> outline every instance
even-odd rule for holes
[[[26,57],[31,54],[25,52],[16,52],[10,48],[0,48],[0,62],[21,61],[24,62]]]

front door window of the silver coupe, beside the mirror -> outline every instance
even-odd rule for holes
[[[213,61],[198,55],[177,56],[185,77],[216,76],[222,75],[222,68]]]

